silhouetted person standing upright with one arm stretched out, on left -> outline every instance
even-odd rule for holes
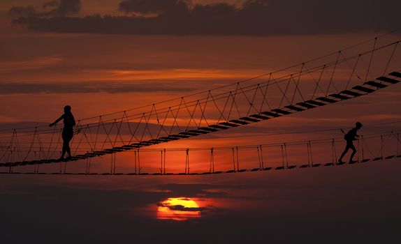
[[[71,158],[70,141],[71,139],[73,139],[73,127],[75,126],[75,119],[73,113],[71,113],[71,106],[66,105],[66,107],[64,107],[64,114],[61,115],[59,119],[51,123],[49,126],[52,127],[53,125],[59,123],[61,119],[64,122],[64,128],[63,132],[61,133],[61,137],[63,138],[63,151],[61,153],[60,159],[63,159],[66,153],[68,154],[68,158]]]

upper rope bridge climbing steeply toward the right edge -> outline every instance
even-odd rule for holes
[[[59,158],[60,126],[0,131],[0,167],[89,160],[363,97],[401,81],[400,40],[380,38],[274,73],[189,96],[80,119],[73,157]],[[261,147],[262,149],[262,147]],[[141,149],[143,150],[143,149]],[[284,166],[283,166],[284,167]],[[238,169],[233,169],[238,171]]]

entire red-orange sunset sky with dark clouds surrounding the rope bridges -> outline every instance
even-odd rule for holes
[[[401,39],[400,9],[401,1],[395,0],[1,0],[0,129],[46,125],[57,119],[67,104],[73,107],[75,119],[152,105],[271,73],[377,36],[386,35],[378,43],[384,45]],[[366,125],[362,134],[400,130],[400,94],[401,85],[396,84],[363,98],[218,132],[212,136],[217,137],[214,139],[205,136],[154,148],[245,146],[342,137],[340,130],[319,134],[307,131],[349,129],[356,121]],[[388,124],[377,126],[381,123]],[[268,135],[302,130],[305,132],[296,135]],[[324,158],[327,152],[316,154]],[[257,157],[251,151],[244,155],[249,162]],[[208,156],[199,153],[195,157],[198,161],[192,158],[194,168],[204,169]],[[273,153],[271,157],[275,156]],[[132,154],[119,157],[119,169],[132,171]],[[158,170],[159,158],[154,157],[143,158],[145,171]],[[185,159],[180,157],[169,158],[171,170],[183,171]],[[245,157],[242,162],[246,164]],[[186,238],[203,236],[198,241],[205,241],[205,229],[210,237],[217,234],[219,242],[224,243],[224,236],[235,235],[235,231],[241,231],[238,240],[252,240],[251,233],[256,234],[255,240],[261,240],[268,228],[283,234],[285,231],[279,227],[302,227],[309,231],[305,226],[321,231],[322,226],[340,227],[339,238],[333,240],[326,236],[327,230],[319,238],[296,231],[302,240],[309,238],[316,243],[321,238],[328,238],[323,243],[337,243],[346,234],[363,243],[380,243],[380,236],[386,235],[388,242],[381,243],[393,243],[391,238],[401,237],[393,229],[400,224],[392,224],[401,217],[397,207],[401,203],[401,184],[395,174],[400,171],[400,160],[382,163],[387,170],[357,165],[311,169],[307,173],[274,172],[270,174],[272,182],[264,172],[221,178],[1,174],[0,213],[7,215],[0,220],[0,227],[10,230],[6,234],[6,239],[10,239],[12,233],[17,233],[14,228],[23,223],[22,228],[29,229],[43,214],[45,217],[38,221],[52,228],[52,234],[46,234],[49,239],[41,237],[45,243],[64,235],[59,230],[64,227],[72,236],[82,234],[88,241],[99,243],[112,238],[104,234],[110,229],[130,240],[135,235],[140,240],[145,240],[146,234],[152,238],[152,233],[163,229],[166,240],[174,240],[180,238],[180,231],[176,230],[180,228],[185,229],[181,234]],[[76,170],[81,169],[80,162],[73,164]],[[94,167],[106,171],[110,162],[99,161]],[[222,165],[221,169],[228,166]],[[113,197],[115,201],[110,200]],[[166,208],[172,197],[182,201],[191,197],[198,204],[196,212],[184,214],[185,217],[196,213],[196,218],[187,222],[189,225],[175,222],[174,218],[156,218],[160,215],[157,209]],[[384,209],[385,202],[388,209]],[[53,206],[45,208],[48,204]],[[305,206],[305,211],[300,205]],[[66,212],[60,213],[64,210],[58,206]],[[333,213],[328,208],[333,208]],[[6,213],[4,209],[11,211]],[[172,212],[162,215],[182,210],[171,209]],[[38,213],[34,213],[36,210]],[[135,218],[146,224],[141,225]],[[358,227],[364,220],[363,227]],[[76,228],[72,227],[75,222]],[[54,229],[52,224],[60,228]],[[129,224],[135,230],[130,231]],[[353,224],[358,228],[350,234],[346,227]],[[85,234],[85,229],[92,227],[100,231]],[[377,227],[379,234],[373,238],[360,233],[365,232],[364,228],[372,231]],[[38,238],[34,232],[25,231]],[[105,238],[102,240],[101,236]],[[267,234],[265,237],[268,241]],[[291,242],[297,238],[290,235],[284,240]],[[273,239],[280,240],[277,236]],[[20,239],[23,240],[24,237]]]

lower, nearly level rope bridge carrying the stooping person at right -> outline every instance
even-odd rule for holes
[[[400,123],[398,121],[397,123]],[[87,160],[85,171],[67,171],[67,162],[60,162],[59,170],[53,172],[40,171],[40,166],[50,163],[49,161],[38,164],[31,162],[22,164],[14,162],[8,166],[8,171],[0,171],[0,174],[78,174],[78,175],[207,175],[207,174],[230,174],[247,171],[270,171],[284,169],[303,169],[315,167],[331,167],[340,165],[353,165],[366,162],[380,162],[401,158],[401,130],[372,133],[362,135],[356,140],[356,160],[349,162],[338,162],[338,155],[344,148],[342,137],[316,139],[309,141],[282,142],[275,144],[260,144],[247,146],[221,146],[214,148],[143,148],[131,152],[133,158],[132,172],[122,173],[117,171],[115,153],[111,155],[110,171],[96,173],[91,171],[91,161]],[[339,148],[340,144],[340,148]],[[324,152],[319,153],[319,152]],[[330,152],[330,153],[327,153]],[[145,158],[159,160],[159,167],[153,172],[144,172],[141,165],[141,155],[147,154]],[[168,154],[179,154],[173,162],[180,162],[180,172],[172,172],[171,165],[166,160]],[[207,171],[194,171],[190,167],[190,158],[198,158],[203,155],[203,165],[208,167]],[[218,157],[217,155],[220,155]],[[257,156],[257,157],[256,157]],[[144,158],[144,156],[142,156]],[[205,160],[207,158],[207,160]],[[14,171],[14,167],[33,165],[33,171]],[[80,165],[81,168],[84,165]],[[227,169],[228,167],[228,169]],[[25,169],[27,167],[24,167]],[[202,167],[203,168],[203,167]],[[223,170],[226,168],[225,170]],[[150,169],[150,167],[148,167]]]

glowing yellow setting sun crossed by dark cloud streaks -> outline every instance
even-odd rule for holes
[[[188,197],[168,198],[159,203],[157,209],[158,220],[182,221],[200,217],[201,211],[198,204]]]

